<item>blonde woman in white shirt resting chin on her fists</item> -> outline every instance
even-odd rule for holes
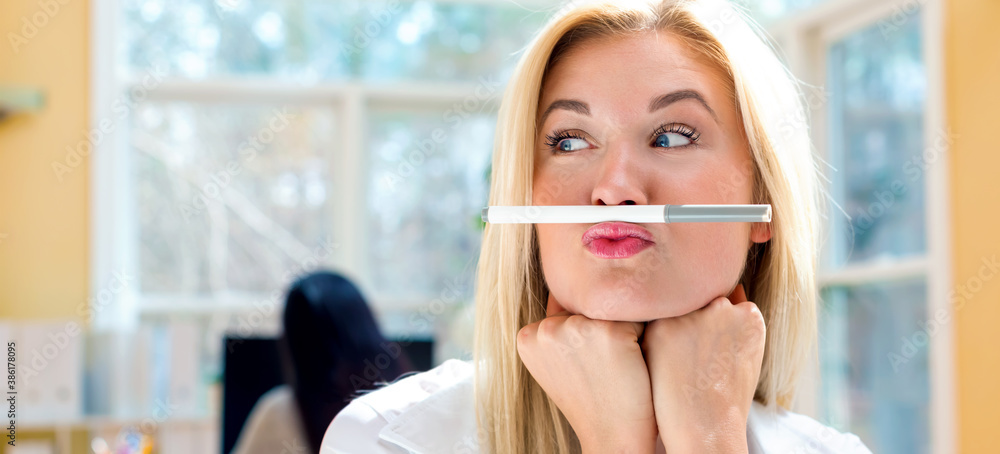
[[[816,340],[796,85],[726,3],[570,5],[504,94],[490,205],[768,203],[770,224],[488,225],[472,363],[354,400],[324,453],[869,452],[786,410]]]

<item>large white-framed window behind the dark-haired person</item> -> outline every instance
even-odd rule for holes
[[[95,5],[93,118],[115,133],[93,158],[92,279],[135,285],[94,313],[120,345],[94,363],[121,367],[93,372],[90,411],[168,399],[210,424],[223,333],[275,333],[314,269],[352,278],[391,337],[461,310],[498,100],[554,4]]]

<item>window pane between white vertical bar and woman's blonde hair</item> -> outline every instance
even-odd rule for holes
[[[495,122],[492,115],[451,117],[443,110],[372,114],[369,260],[383,296],[471,289]]]

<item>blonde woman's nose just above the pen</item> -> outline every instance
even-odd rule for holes
[[[639,156],[631,145],[607,148],[601,156],[600,172],[591,192],[593,205],[646,205],[645,175]]]

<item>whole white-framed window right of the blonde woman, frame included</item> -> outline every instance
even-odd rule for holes
[[[940,5],[777,3],[791,13],[767,28],[806,83],[830,202],[820,366],[798,410],[873,452],[951,452]]]

